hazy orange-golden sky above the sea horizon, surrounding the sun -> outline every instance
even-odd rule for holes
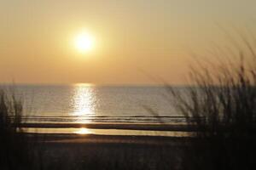
[[[0,0],[0,82],[185,84],[192,51],[255,21],[255,0]]]

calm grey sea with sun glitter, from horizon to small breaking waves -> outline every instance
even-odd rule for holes
[[[183,122],[163,86],[3,86],[24,104],[23,122]]]

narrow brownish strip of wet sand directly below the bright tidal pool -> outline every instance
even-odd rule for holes
[[[47,134],[27,133],[28,141],[37,141],[44,144],[103,144],[103,145],[143,145],[143,146],[182,146],[190,137],[167,136],[125,136],[125,135],[101,135],[101,134]]]

